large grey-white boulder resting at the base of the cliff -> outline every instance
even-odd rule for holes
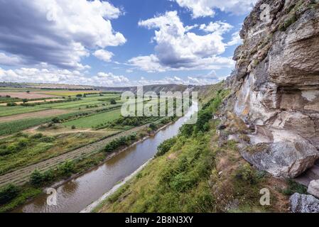
[[[275,177],[295,178],[312,167],[318,150],[307,141],[257,144],[241,151],[245,160]]]

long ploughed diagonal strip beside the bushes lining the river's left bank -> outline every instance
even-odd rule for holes
[[[39,162],[35,165],[30,165],[28,167],[23,167],[19,170],[9,172],[6,175],[1,175],[0,176],[0,187],[4,186],[5,184],[16,184],[16,185],[24,184],[24,183],[28,182],[31,173],[34,170],[40,170],[41,172],[45,172],[46,170],[57,167],[62,162],[65,162],[66,160],[74,160],[77,157],[87,157],[89,155],[92,155],[93,153],[97,153],[100,150],[102,150],[105,147],[105,145],[107,145],[107,143],[111,142],[115,138],[129,135],[131,133],[135,133],[135,132],[140,131],[141,129],[146,128],[148,126],[149,126],[149,124],[146,124],[144,126],[139,126],[139,127],[133,128],[129,131],[124,131],[124,132],[119,133],[117,135],[113,135],[113,136],[106,138],[104,140],[100,140],[97,143],[92,143],[90,145],[86,145],[86,146],[79,148],[77,150],[73,150],[69,153],[65,153],[63,155],[60,155],[58,157],[53,157],[50,160]]]

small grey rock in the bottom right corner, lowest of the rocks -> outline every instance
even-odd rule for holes
[[[319,199],[314,196],[295,193],[289,200],[293,213],[319,213]]]

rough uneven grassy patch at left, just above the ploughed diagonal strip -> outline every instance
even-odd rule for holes
[[[62,155],[108,136],[105,133],[72,133],[62,137],[14,135],[0,140],[0,174]]]

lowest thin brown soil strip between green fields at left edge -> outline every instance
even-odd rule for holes
[[[71,111],[63,110],[63,109],[48,109],[45,111],[31,112],[26,114],[16,114],[11,116],[3,116],[0,117],[0,123],[8,122],[8,121],[17,121],[26,118],[41,118],[41,117],[49,117],[56,116],[60,114],[68,114]]]

